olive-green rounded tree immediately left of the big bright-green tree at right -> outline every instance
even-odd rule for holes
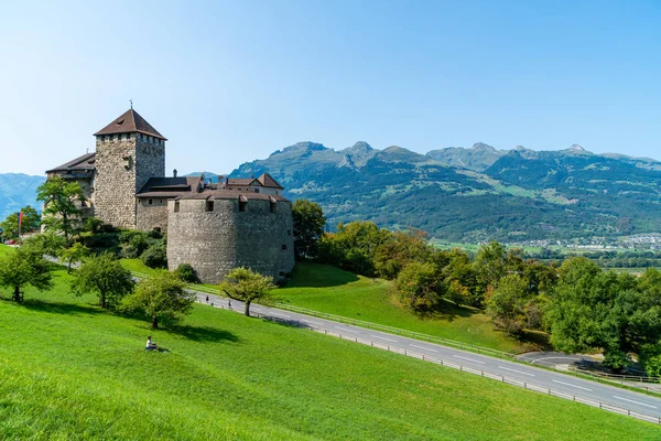
[[[527,283],[519,275],[500,279],[487,299],[487,314],[497,327],[519,336],[525,325]]]

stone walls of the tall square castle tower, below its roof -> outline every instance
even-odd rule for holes
[[[121,228],[136,228],[136,193],[152,176],[165,175],[165,146],[126,133],[97,137],[95,215]]]

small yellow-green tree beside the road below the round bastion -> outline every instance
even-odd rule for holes
[[[231,300],[243,302],[246,305],[245,314],[250,316],[250,303],[271,300],[271,291],[275,289],[275,284],[273,284],[272,278],[240,267],[232,269],[225,276],[219,289]]]

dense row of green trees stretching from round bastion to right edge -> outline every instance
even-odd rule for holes
[[[297,238],[312,223],[296,215],[295,205]],[[307,208],[318,225],[321,208]],[[401,303],[416,312],[442,310],[445,301],[478,308],[516,337],[545,331],[559,351],[602,351],[604,364],[616,372],[638,362],[648,374],[661,375],[661,272],[653,268],[637,277],[604,270],[585,257],[544,263],[497,241],[470,256],[432,247],[423,232],[390,232],[371,222],[340,224],[334,234],[316,232],[305,256],[393,280]]]

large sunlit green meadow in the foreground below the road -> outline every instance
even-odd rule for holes
[[[68,292],[0,301],[0,439],[652,440],[627,417],[195,305],[185,323]],[[149,353],[152,334],[167,353]]]

